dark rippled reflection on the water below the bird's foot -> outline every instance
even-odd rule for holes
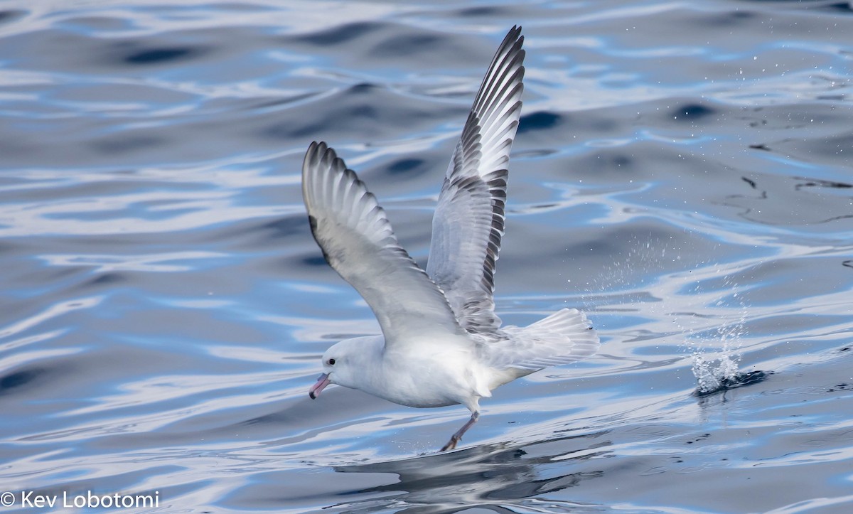
[[[606,431],[573,435],[521,447],[506,444],[470,447],[453,453],[431,453],[412,459],[337,466],[339,473],[390,473],[399,482],[353,491],[371,499],[330,506],[332,511],[406,513],[449,513],[479,507],[494,512],[516,512],[533,502],[559,504],[559,511],[597,511],[600,505],[571,501],[534,499],[585,480],[604,475],[589,466],[578,469],[583,460],[608,456],[610,441],[601,441]],[[571,447],[567,450],[566,447]],[[546,449],[547,448],[547,449]],[[550,451],[548,451],[550,450]],[[572,457],[572,453],[578,453]],[[380,498],[377,498],[380,496]],[[536,509],[535,509],[536,510]]]

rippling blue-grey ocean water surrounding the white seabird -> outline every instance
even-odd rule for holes
[[[0,9],[4,511],[853,510],[849,3]],[[378,325],[299,169],[328,141],[425,263],[515,24],[497,312],[579,307],[603,346],[497,389],[439,454],[463,407],[308,398]]]

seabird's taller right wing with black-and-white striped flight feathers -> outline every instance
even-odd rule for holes
[[[513,27],[492,59],[456,144],[432,218],[427,274],[469,332],[501,325],[495,261],[503,235],[507,164],[521,115],[525,50]]]

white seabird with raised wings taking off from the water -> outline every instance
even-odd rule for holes
[[[323,353],[310,397],[336,383],[404,406],[466,406],[471,418],[441,451],[455,448],[477,422],[479,399],[492,389],[599,348],[577,309],[527,327],[501,327],[494,312],[509,149],[524,89],[523,42],[514,26],[474,99],[438,196],[426,272],[400,247],[385,211],[334,149],[311,143],[302,165],[311,232],[382,330]]]

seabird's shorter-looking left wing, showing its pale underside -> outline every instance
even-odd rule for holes
[[[400,248],[375,196],[326,143],[305,153],[302,196],[323,256],[368,302],[388,344],[436,330],[462,333],[441,289]]]

